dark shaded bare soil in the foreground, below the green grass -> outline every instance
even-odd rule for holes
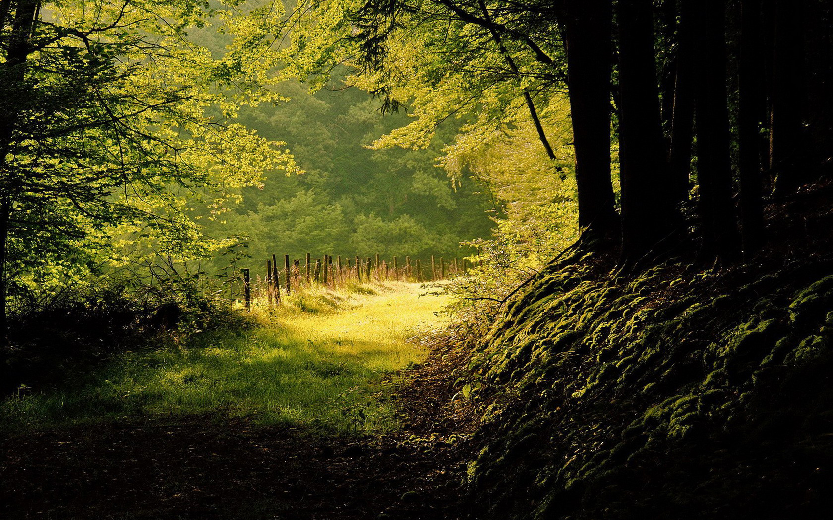
[[[2,443],[0,517],[63,519],[461,518],[476,428],[452,399],[466,362],[434,350],[405,373],[402,429],[324,437],[222,415],[126,418]]]

